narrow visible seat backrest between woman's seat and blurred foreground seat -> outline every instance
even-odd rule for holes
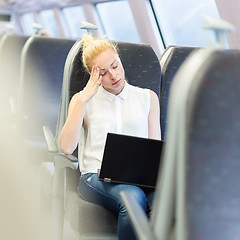
[[[194,47],[169,46],[160,58],[162,71],[160,109],[163,140],[166,139],[168,98],[173,78],[184,60],[195,49]]]

